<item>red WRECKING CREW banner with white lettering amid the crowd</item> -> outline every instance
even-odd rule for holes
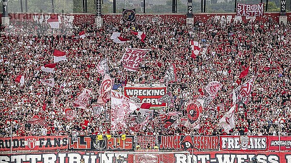
[[[166,107],[166,103],[158,99],[167,93],[167,87],[124,87],[124,96],[137,97],[138,103],[151,103],[151,107]]]

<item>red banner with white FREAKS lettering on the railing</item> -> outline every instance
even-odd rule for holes
[[[267,150],[267,136],[219,136],[220,150],[261,151]]]

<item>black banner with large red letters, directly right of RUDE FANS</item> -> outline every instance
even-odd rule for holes
[[[108,139],[103,135],[103,140],[98,140],[97,135],[78,136],[78,141],[73,142],[69,137],[69,150],[133,150],[133,137],[126,136],[122,140],[121,136],[112,136]]]

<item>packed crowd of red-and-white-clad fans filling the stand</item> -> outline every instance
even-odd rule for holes
[[[47,23],[13,20],[2,27],[0,37],[0,136],[10,136],[10,125],[12,136],[71,135],[72,131],[85,135],[223,135],[226,132],[218,120],[231,106],[232,90],[253,76],[256,80],[249,101],[245,108],[236,110],[236,127],[229,134],[278,135],[280,127],[280,135],[290,135],[291,26],[272,20],[256,20],[253,26],[254,31],[249,22],[212,19],[186,26],[174,20],[137,19],[124,24],[106,21],[102,28],[95,28],[90,23],[63,21],[60,29],[51,32]],[[76,37],[80,31],[85,31],[84,39]],[[114,31],[129,41],[114,43],[110,39]],[[145,32],[145,43],[130,31]],[[207,52],[190,57],[190,40],[199,41]],[[151,49],[136,72],[125,70],[120,62],[126,48]],[[40,67],[53,62],[53,49],[65,51],[68,61],[58,63],[54,74],[43,72]],[[162,123],[153,123],[159,118],[157,110],[154,120],[138,132],[130,128],[111,131],[110,101],[97,116],[91,108],[97,103],[103,78],[96,65],[104,58],[110,77],[115,78],[115,84],[123,85],[161,83],[166,68],[175,64],[177,82],[168,85],[175,107],[165,111],[181,112],[181,118],[186,117],[181,103],[205,95],[203,86],[219,81],[223,87],[204,108],[199,129],[184,127],[179,120],[165,129]],[[247,66],[249,74],[239,80]],[[23,85],[15,82],[19,74],[25,77]],[[50,77],[56,82],[53,88],[40,83]],[[55,95],[53,106],[54,92],[64,82],[65,88]],[[83,88],[92,90],[87,109],[73,107]],[[67,108],[77,112],[73,120],[66,119]],[[29,123],[33,115],[45,119],[48,125]]]

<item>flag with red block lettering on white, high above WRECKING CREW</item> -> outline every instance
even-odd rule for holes
[[[149,49],[127,49],[121,58],[124,68],[128,71],[135,72]]]

